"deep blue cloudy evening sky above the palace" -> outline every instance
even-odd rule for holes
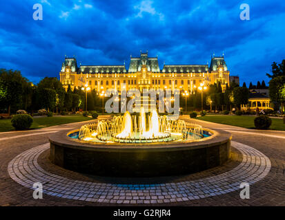
[[[32,6],[43,5],[43,21]],[[239,5],[250,5],[242,21]],[[224,52],[241,83],[265,80],[285,58],[285,3],[271,1],[10,0],[0,2],[0,68],[33,83],[57,76],[64,56],[78,65],[117,65],[158,56],[159,65],[206,64]]]

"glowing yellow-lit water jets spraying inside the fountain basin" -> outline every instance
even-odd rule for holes
[[[184,120],[170,120],[155,110],[147,117],[144,108],[139,115],[130,115],[127,111],[112,120],[100,120],[97,125],[83,125],[79,131],[79,140],[108,143],[179,142],[202,137],[202,126],[186,126]]]

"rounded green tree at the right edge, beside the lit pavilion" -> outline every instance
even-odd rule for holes
[[[275,108],[279,109],[279,106],[284,106],[284,100],[282,98],[282,88],[285,85],[285,76],[277,76],[269,82],[269,97],[276,103]]]

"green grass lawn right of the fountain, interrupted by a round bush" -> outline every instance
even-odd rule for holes
[[[242,126],[247,129],[255,129],[255,117],[244,115],[205,115],[204,117],[198,117],[199,120],[207,122],[215,122],[219,124],[228,124],[233,126]],[[272,124],[271,130],[285,131],[285,124],[283,124],[282,118],[271,118]]]

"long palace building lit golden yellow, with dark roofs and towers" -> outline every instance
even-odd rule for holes
[[[211,85],[220,82],[223,90],[230,83],[230,72],[224,56],[211,58],[207,65],[164,65],[159,69],[157,57],[130,56],[130,66],[126,65],[81,65],[77,66],[75,58],[65,58],[60,72],[60,81],[66,89],[70,85],[83,87],[98,92],[106,89],[180,89],[194,94],[201,83]],[[125,88],[126,87],[126,88]]]

